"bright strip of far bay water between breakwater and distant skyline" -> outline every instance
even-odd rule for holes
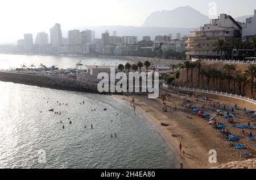
[[[39,66],[41,63],[47,67],[57,65],[58,68],[75,68],[78,61],[84,65],[117,65],[127,61],[110,58],[67,57],[67,56],[39,56],[39,55],[5,55],[0,54],[0,69],[20,68],[23,64]]]

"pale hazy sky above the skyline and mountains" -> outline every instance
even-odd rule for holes
[[[255,0],[1,0],[0,43],[15,42],[23,34],[49,32],[55,23],[62,30],[77,26],[141,26],[154,11],[173,10],[180,6],[209,14],[214,2],[217,14],[233,17],[253,14]],[[185,13],[185,12],[184,12]],[[35,37],[34,37],[35,38]]]

